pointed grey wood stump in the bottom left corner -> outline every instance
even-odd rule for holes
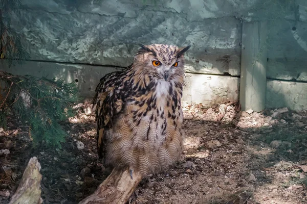
[[[29,203],[29,204],[41,204],[42,199],[40,197],[40,181],[41,174],[39,173],[40,164],[36,157],[32,157],[26,167],[23,178],[20,184],[12,196],[9,204]]]

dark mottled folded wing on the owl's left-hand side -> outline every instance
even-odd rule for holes
[[[106,74],[100,79],[96,87],[96,94],[93,98],[93,105],[96,105],[97,120],[97,150],[99,158],[103,157],[104,144],[103,132],[112,125],[114,117],[121,112],[123,101],[118,97],[117,82],[121,80],[120,72]]]

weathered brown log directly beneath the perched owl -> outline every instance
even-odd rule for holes
[[[124,204],[141,182],[143,176],[133,172],[132,179],[128,169],[113,169],[98,189],[79,204]]]

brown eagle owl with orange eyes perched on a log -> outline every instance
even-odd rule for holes
[[[140,46],[131,65],[100,79],[93,105],[104,165],[146,175],[181,156],[183,55],[190,46]]]

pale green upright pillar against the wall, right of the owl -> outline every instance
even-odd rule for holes
[[[243,111],[266,106],[267,22],[243,22],[240,71],[240,104]]]

